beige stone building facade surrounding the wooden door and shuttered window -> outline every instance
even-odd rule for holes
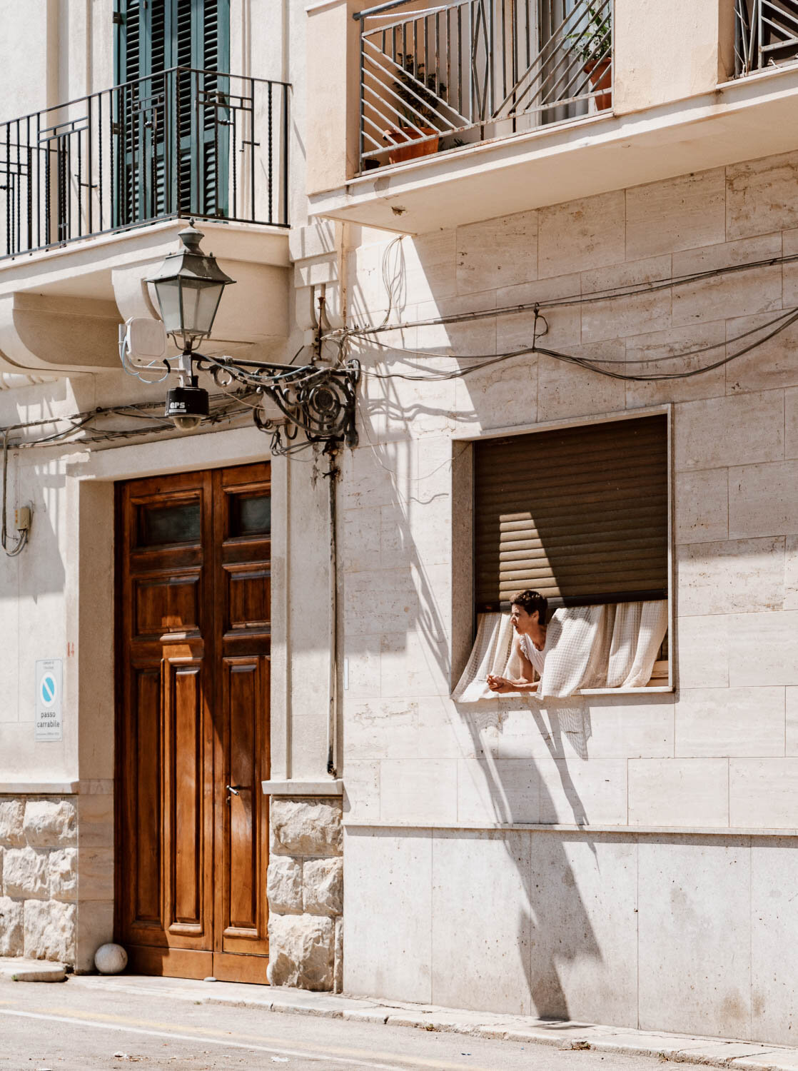
[[[765,336],[798,308],[798,66],[731,79],[724,0],[679,0],[667,26],[659,0],[616,0],[613,114],[358,174],[362,5],[287,22],[249,6],[264,39],[246,44],[234,2],[241,70],[293,87],[291,229],[207,225],[240,281],[212,351],[287,363],[315,344],[320,298],[326,359],[343,328],[390,329],[347,341],[360,438],[337,455],[335,540],[326,459],[272,457],[270,982],[787,1042],[798,325]],[[95,88],[111,78],[96,19]],[[81,55],[81,27],[47,47]],[[178,228],[0,260],[0,428],[163,399],[116,351],[87,373],[64,346],[44,378],[4,340],[27,291],[84,332],[97,296],[114,326],[151,315],[141,278]],[[468,371],[540,342],[536,305],[547,349],[643,378],[537,352]],[[455,702],[472,443],[641,413],[669,435],[669,681]],[[114,936],[115,482],[268,452],[243,421],[12,451],[9,503],[30,501],[34,527],[0,558],[0,954],[89,970]],[[41,658],[64,660],[51,743],[33,731]]]

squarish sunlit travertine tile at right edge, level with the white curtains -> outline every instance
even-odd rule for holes
[[[728,621],[728,682],[798,684],[798,610],[738,614]]]

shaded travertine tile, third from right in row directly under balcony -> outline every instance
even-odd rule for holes
[[[621,263],[624,236],[622,190],[541,209],[538,274],[544,278]]]

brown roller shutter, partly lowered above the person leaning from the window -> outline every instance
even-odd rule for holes
[[[476,442],[478,608],[665,599],[667,496],[664,414]]]

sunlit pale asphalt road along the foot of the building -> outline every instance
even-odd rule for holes
[[[646,1057],[194,1004],[61,984],[0,982],[0,1071],[285,1068],[653,1071]]]

